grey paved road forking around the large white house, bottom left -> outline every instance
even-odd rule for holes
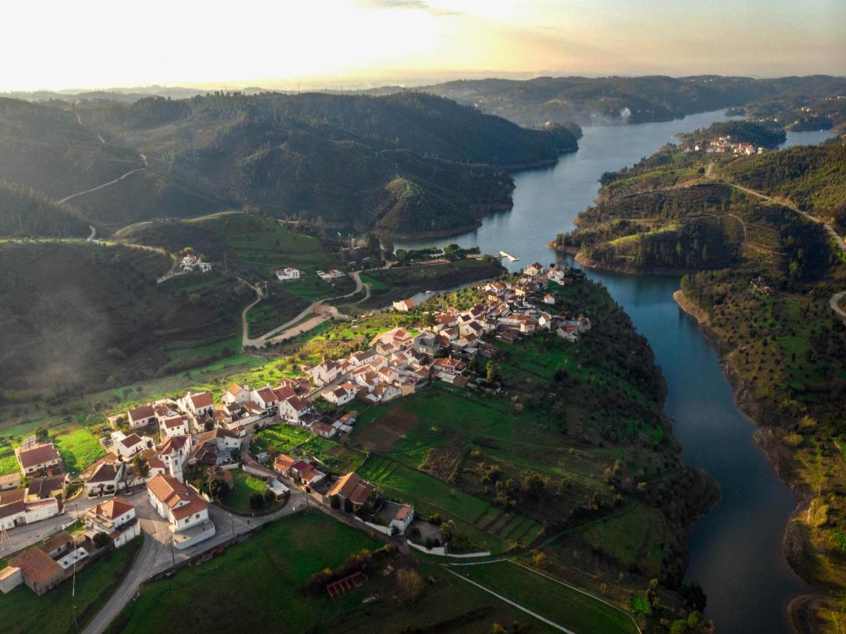
[[[283,509],[261,517],[239,517],[216,504],[211,504],[209,515],[211,521],[215,524],[215,536],[189,549],[176,550],[173,549],[171,543],[168,522],[162,520],[146,501],[146,488],[142,488],[140,492],[129,496],[129,500],[135,504],[135,512],[140,517],[141,530],[144,532],[144,545],[141,547],[132,568],[115,589],[112,597],[102,606],[102,609],[91,622],[85,626],[84,634],[99,634],[105,631],[109,624],[118,617],[124,606],[135,598],[141,583],[153,575],[167,571],[173,566],[174,562],[190,560],[196,554],[206,552],[217,544],[233,538],[234,535],[242,535],[255,526],[261,526],[269,521],[293,515],[306,508],[305,493],[300,493],[296,489],[291,490],[291,497]]]

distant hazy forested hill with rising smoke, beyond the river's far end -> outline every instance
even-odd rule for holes
[[[843,94],[846,78],[812,75],[750,77],[538,77],[533,80],[459,80],[420,90],[481,108],[520,125],[668,121],[685,114],[742,106],[773,97]]]

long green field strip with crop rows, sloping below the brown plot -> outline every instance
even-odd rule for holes
[[[437,512],[444,521],[455,521],[459,536],[468,540],[475,550],[494,552],[504,549],[509,542],[527,544],[541,532],[541,525],[525,515],[499,509],[382,456],[371,455],[358,473],[388,497],[413,502],[420,517]]]

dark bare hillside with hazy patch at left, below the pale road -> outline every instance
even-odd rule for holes
[[[251,289],[218,273],[157,285],[170,266],[124,246],[0,245],[0,400],[96,391],[225,354]]]

